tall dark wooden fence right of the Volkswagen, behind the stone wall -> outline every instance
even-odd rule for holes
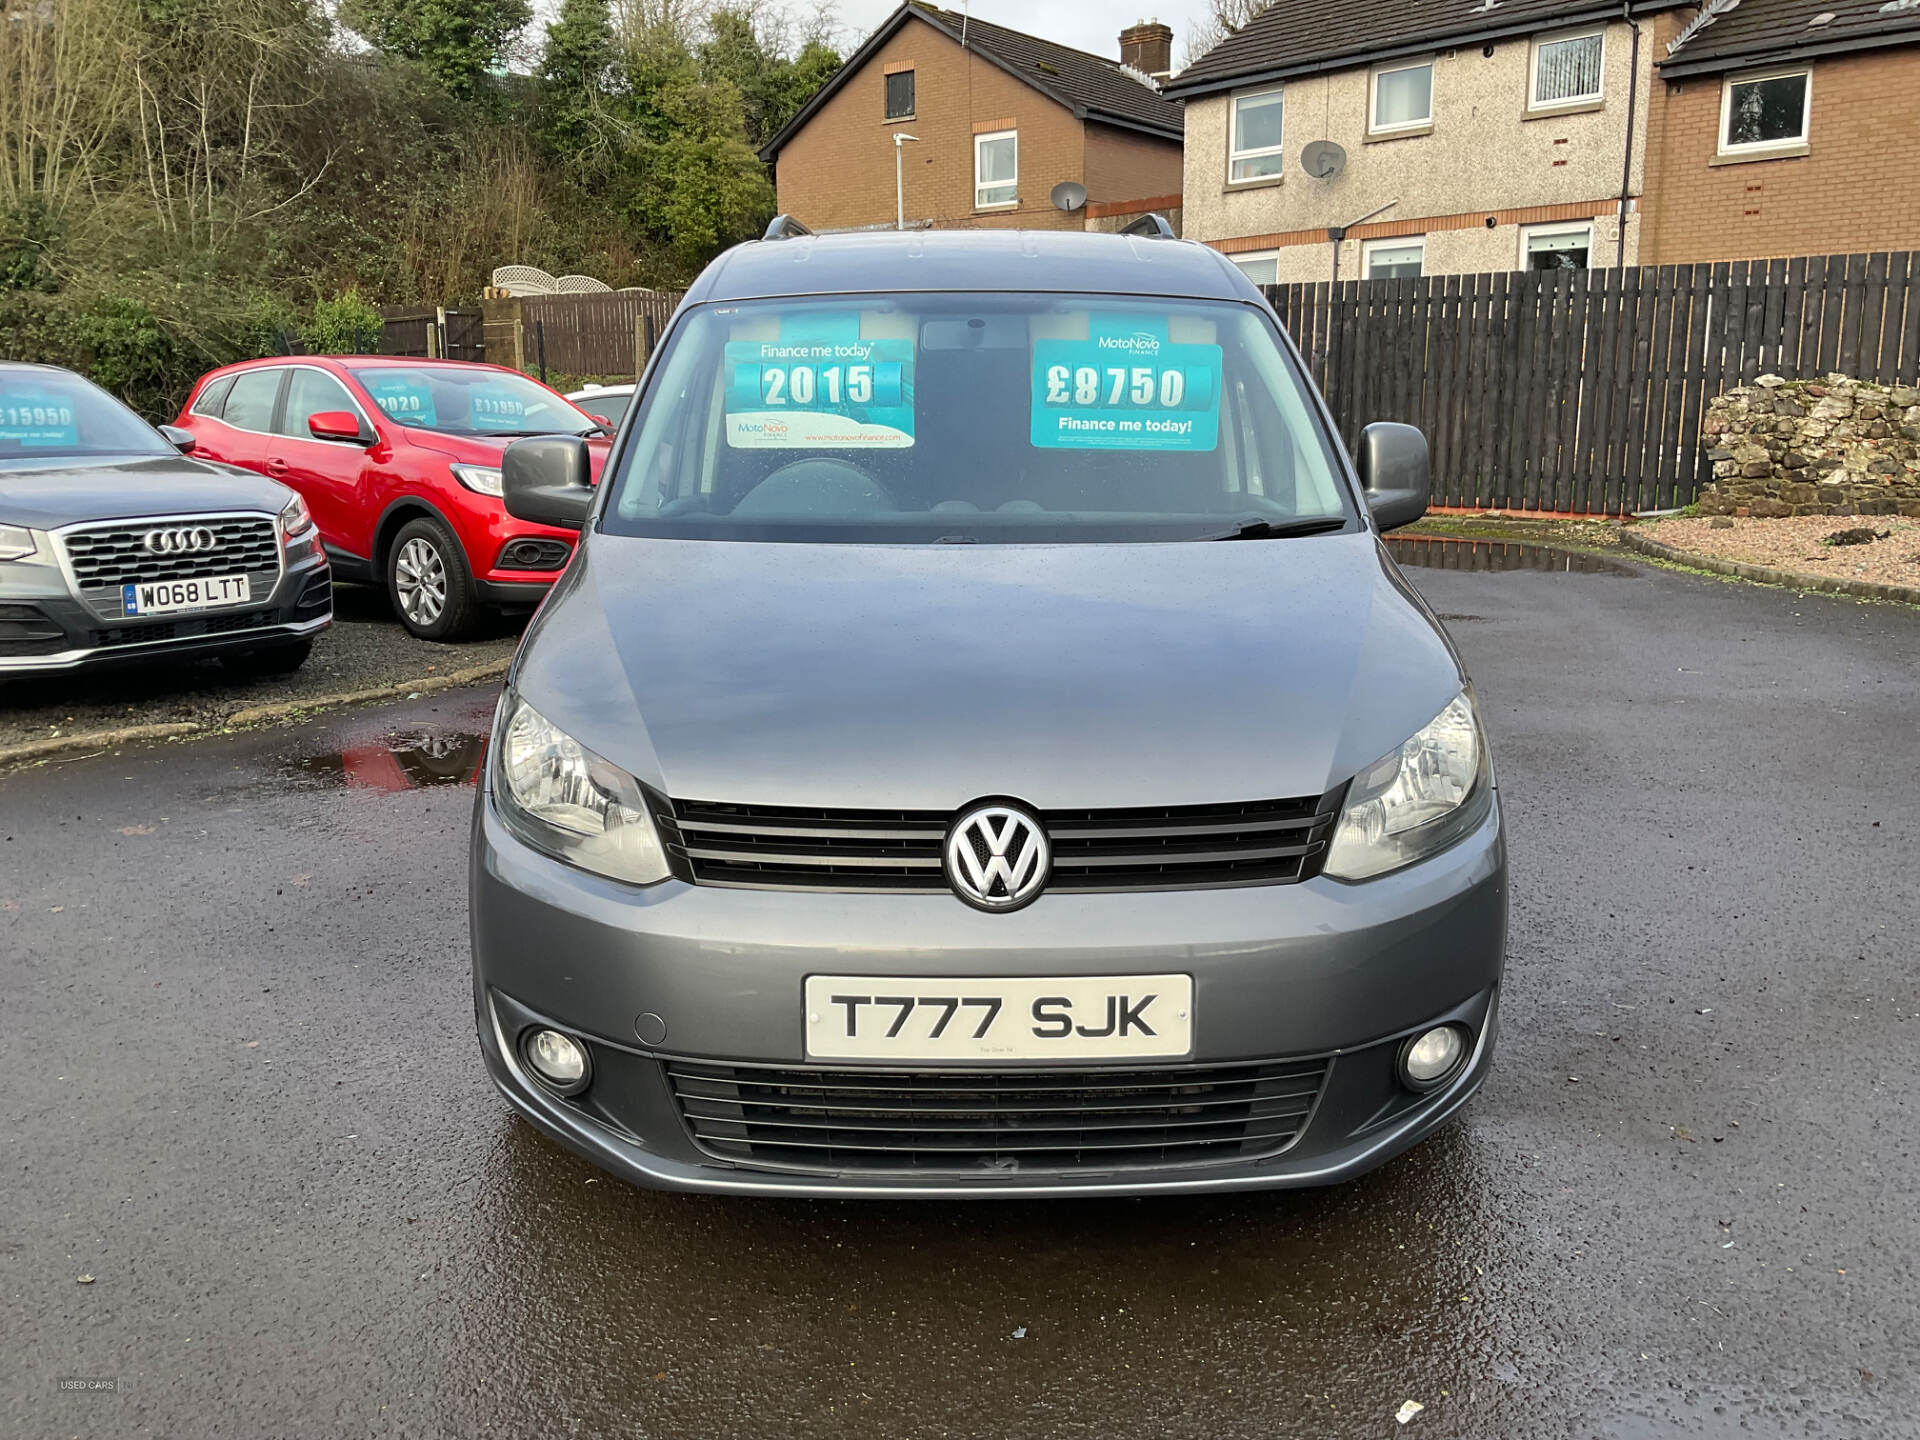
[[[1267,286],[1348,444],[1427,432],[1434,503],[1686,505],[1707,401],[1761,374],[1920,378],[1920,252]]]

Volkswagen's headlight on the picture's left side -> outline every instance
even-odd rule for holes
[[[497,753],[501,810],[528,845],[628,885],[672,874],[639,781],[511,693]]]

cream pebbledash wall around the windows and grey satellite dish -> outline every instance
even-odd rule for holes
[[[1653,58],[1680,19],[1663,12],[1640,21],[1640,67],[1632,75],[1634,157],[1628,192],[1645,171],[1645,121]],[[1544,29],[1540,35],[1553,35]],[[1340,276],[1359,278],[1361,244],[1423,236],[1427,275],[1469,275],[1521,267],[1526,225],[1592,221],[1590,263],[1611,267],[1619,246],[1620,161],[1626,150],[1632,31],[1607,25],[1601,100],[1561,113],[1526,111],[1530,38],[1434,52],[1432,129],[1369,136],[1369,69],[1354,67],[1286,81],[1284,173],[1279,180],[1227,182],[1229,94],[1187,102],[1185,232],[1235,253],[1277,252],[1279,282],[1332,275],[1327,227],[1348,225],[1375,205],[1398,202],[1379,221],[1356,227],[1340,246]],[[1242,90],[1265,88],[1246,84]],[[1336,140],[1348,156],[1332,180],[1300,169],[1309,140]],[[1488,219],[1494,221],[1488,227]],[[1640,215],[1626,223],[1626,263],[1640,263]]]

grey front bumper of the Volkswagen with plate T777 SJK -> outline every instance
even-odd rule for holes
[[[534,1125],[637,1185],[929,1198],[1325,1185],[1427,1137],[1492,1064],[1507,914],[1498,797],[1475,835],[1365,885],[1062,893],[1018,914],[981,914],[943,895],[739,891],[678,879],[624,887],[524,847],[488,789],[482,783],[470,872],[474,1006],[488,1071]],[[672,1060],[806,1068],[801,991],[810,973],[1169,970],[1194,977],[1194,1054],[1185,1064],[1196,1071],[1325,1062],[1313,1112],[1279,1154],[979,1175],[774,1167],[697,1146],[668,1079]],[[641,1043],[641,1018],[649,1039],[664,1021],[664,1039]],[[1400,1046],[1442,1021],[1469,1027],[1469,1060],[1442,1089],[1415,1094],[1398,1081]],[[526,1073],[516,1037],[532,1023],[588,1043],[586,1092],[561,1098]]]

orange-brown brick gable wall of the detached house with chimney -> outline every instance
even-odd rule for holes
[[[914,113],[887,119],[889,69],[914,71]],[[920,19],[908,19],[781,148],[780,207],[814,230],[891,225],[893,132],[906,146],[906,221],[948,227],[1079,230],[1083,217],[1048,194],[1079,180],[1091,200],[1177,194],[1181,144],[1121,127],[1081,123],[991,60]],[[973,136],[1020,132],[1020,204],[973,207]]]

